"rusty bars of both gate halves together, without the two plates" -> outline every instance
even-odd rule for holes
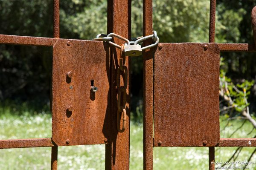
[[[29,45],[29,46],[54,46],[60,38],[59,32],[59,0],[54,0],[54,31],[53,38],[49,37],[27,37],[15,35],[0,35],[0,44]],[[143,0],[143,36],[151,35],[153,31],[152,23],[152,0]],[[215,43],[215,13],[216,0],[210,0],[210,22],[209,22],[209,43]],[[115,32],[123,37],[131,38],[131,0],[108,0],[108,33]],[[69,39],[62,39],[69,40]],[[83,40],[79,40],[83,41]],[[116,43],[121,43],[115,39]],[[145,45],[151,44],[147,40]],[[247,43],[217,43],[221,52],[256,52],[254,44]],[[161,43],[159,43],[161,46]],[[117,61],[120,58],[119,52],[111,48],[111,79],[115,79]],[[126,63],[130,65],[127,58]],[[143,161],[144,170],[153,169],[153,91],[154,91],[154,49],[149,49],[143,53]],[[129,67],[128,67],[129,68]],[[130,70],[130,69],[128,69]],[[130,71],[129,75],[130,76]],[[113,82],[113,80],[111,82]],[[128,83],[130,84],[130,83]],[[111,86],[111,139],[106,144],[106,164],[105,169],[129,169],[129,131],[130,121],[125,133],[117,133],[116,130],[116,96],[115,86]],[[128,88],[128,96],[130,90]],[[129,103],[128,98],[128,103]],[[129,112],[128,118],[129,118]],[[251,144],[248,142],[251,141]],[[118,146],[118,147],[116,147]],[[11,139],[0,140],[0,149],[4,148],[24,148],[24,147],[52,147],[51,168],[57,170],[58,146],[52,138],[32,138],[32,139]],[[220,142],[215,147],[256,147],[256,138],[220,138]],[[209,147],[209,170],[215,169],[215,147]],[[118,155],[118,157],[116,157]]]

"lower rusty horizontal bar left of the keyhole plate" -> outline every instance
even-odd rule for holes
[[[52,138],[9,139],[0,140],[0,149],[24,147],[54,147]]]

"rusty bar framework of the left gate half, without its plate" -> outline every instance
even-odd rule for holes
[[[18,35],[0,35],[0,44],[26,45],[26,46],[54,46],[58,40],[67,41],[87,41],[90,40],[74,40],[60,38],[60,0],[53,0],[53,38],[51,37],[29,37]],[[115,32],[123,37],[131,38],[131,0],[108,0],[108,30],[107,32]],[[116,43],[122,43],[121,40],[114,38]],[[95,41],[91,41],[95,43]],[[103,42],[100,42],[103,45]],[[110,138],[102,139],[105,143],[105,169],[119,170],[129,169],[130,154],[130,81],[126,90],[126,130],[118,133],[116,129],[116,109],[117,109],[117,92],[116,92],[116,70],[120,58],[119,49],[109,46],[110,56],[110,96],[111,96],[111,115],[109,128]],[[107,54],[108,55],[108,54]],[[125,65],[128,68],[128,77],[130,77],[130,59],[126,58]],[[108,83],[108,82],[107,82]],[[116,97],[115,97],[116,96]],[[52,98],[52,96],[51,96]],[[52,101],[51,101],[52,102]],[[52,108],[51,108],[52,110]],[[27,147],[51,147],[51,169],[57,170],[58,165],[58,146],[52,138],[28,138],[28,139],[7,139],[0,140],[0,149],[7,148],[27,148]]]

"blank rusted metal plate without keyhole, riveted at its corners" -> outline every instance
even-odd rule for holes
[[[215,146],[220,49],[215,43],[161,43],[154,60],[154,146]]]

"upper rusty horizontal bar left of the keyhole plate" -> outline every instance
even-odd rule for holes
[[[57,41],[57,39],[55,39],[55,38],[47,38],[47,37],[0,35],[0,44],[53,46],[56,41]]]

